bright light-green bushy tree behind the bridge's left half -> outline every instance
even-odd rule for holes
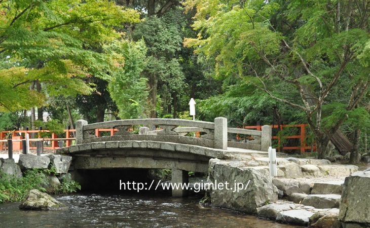
[[[119,70],[112,73],[108,90],[116,102],[121,119],[145,118],[149,95],[147,80],[141,76],[146,60],[145,43],[128,40],[113,41],[104,46],[105,52],[117,56]]]

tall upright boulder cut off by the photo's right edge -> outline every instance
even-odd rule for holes
[[[370,222],[370,168],[346,177],[339,218],[344,222]]]

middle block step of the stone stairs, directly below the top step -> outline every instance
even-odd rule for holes
[[[341,195],[308,195],[301,204],[315,208],[339,208]]]

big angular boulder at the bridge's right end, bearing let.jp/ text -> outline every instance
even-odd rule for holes
[[[272,184],[272,177],[267,169],[235,167],[218,159],[211,159],[209,167],[210,179],[214,183],[211,193],[214,207],[257,214],[258,207],[278,200],[278,190]],[[238,185],[242,189],[235,189]]]

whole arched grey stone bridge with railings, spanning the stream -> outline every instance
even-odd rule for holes
[[[140,127],[139,134],[128,129],[133,126],[156,126],[151,131]],[[116,128],[113,136],[97,137],[95,129]],[[201,132],[201,137],[189,137]],[[236,140],[236,134],[251,140]],[[228,139],[229,136],[229,139]],[[227,119],[218,117],[214,123],[178,119],[118,120],[88,124],[76,122],[76,145],[57,149],[59,154],[72,156],[75,169],[146,168],[171,169],[172,181],[187,181],[188,171],[208,172],[211,158],[223,159],[226,153],[250,149],[266,151],[271,146],[271,127],[262,131],[228,128]],[[185,178],[185,179],[184,179]],[[175,193],[182,196],[183,193]]]

